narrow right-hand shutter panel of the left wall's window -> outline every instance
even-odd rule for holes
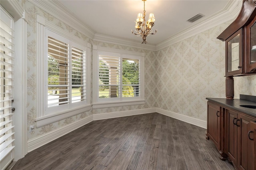
[[[72,103],[86,100],[86,54],[72,47]]]

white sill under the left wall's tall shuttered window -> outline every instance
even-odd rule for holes
[[[68,117],[72,117],[74,115],[78,115],[80,113],[84,113],[86,111],[90,111],[92,105],[86,105],[82,107],[76,107],[72,109],[68,109],[66,111],[53,113],[49,115],[45,115],[44,117],[39,117],[35,119],[36,127],[43,127],[45,125],[49,125],[51,123],[61,121],[63,119],[66,119]]]

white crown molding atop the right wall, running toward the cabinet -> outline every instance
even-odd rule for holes
[[[215,26],[218,26],[224,22],[234,20],[241,9],[242,0],[230,0],[223,10],[201,20],[197,24],[190,26],[177,34],[174,34],[167,40],[156,45],[156,51],[168,47],[174,43],[178,43],[196,34],[209,30]]]

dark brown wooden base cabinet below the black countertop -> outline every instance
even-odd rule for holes
[[[207,134],[238,170],[256,170],[256,118],[208,101]]]

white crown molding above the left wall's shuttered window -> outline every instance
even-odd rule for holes
[[[71,26],[80,33],[85,34],[85,36],[93,40],[95,32],[88,28],[81,20],[77,18],[77,16],[70,12],[60,2],[55,0],[33,0],[28,2],[32,3],[38,8],[41,8],[61,22],[64,22],[65,24]]]

